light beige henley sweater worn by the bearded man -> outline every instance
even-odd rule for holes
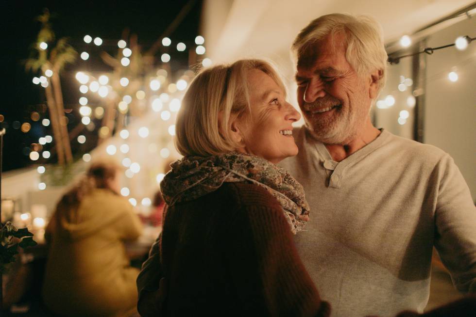
[[[422,312],[433,246],[462,292],[476,290],[476,210],[453,159],[386,130],[334,161],[306,127],[283,160],[311,206],[298,252],[333,317]]]

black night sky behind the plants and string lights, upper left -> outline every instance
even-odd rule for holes
[[[34,43],[40,29],[40,23],[35,20],[36,16],[43,13],[43,8],[48,8],[52,18],[50,20],[56,38],[68,36],[69,43],[76,49],[78,55],[87,50],[90,60],[83,61],[77,58],[76,62],[69,64],[61,73],[63,97],[65,109],[77,107],[80,92],[74,74],[78,70],[98,70],[96,67],[104,67],[99,61],[98,54],[92,52],[94,45],[85,44],[83,37],[86,34],[93,38],[99,36],[103,40],[97,52],[104,50],[111,55],[118,51],[117,42],[121,39],[124,30],[130,34],[136,34],[138,44],[146,50],[156,41],[171,22],[179,14],[181,9],[191,3],[191,10],[173,32],[167,34],[173,43],[184,42],[187,47],[193,44],[199,35],[199,23],[201,15],[201,0],[174,0],[174,1],[4,1],[0,2],[2,14],[1,25],[3,41],[1,45],[2,61],[2,100],[0,102],[0,114],[4,116],[0,128],[5,127],[7,134],[3,138],[3,167],[2,171],[8,171],[38,163],[53,163],[51,159],[42,159],[33,162],[29,159],[28,150],[31,143],[37,143],[39,137],[46,134],[52,135],[51,125],[43,127],[41,120],[48,118],[45,111],[46,98],[44,88],[32,82],[38,73],[25,72],[24,61],[30,56],[30,48]],[[126,31],[127,32],[127,31]],[[170,49],[171,48],[161,48]],[[97,53],[96,52],[96,53]],[[93,53],[93,54],[91,54]],[[156,56],[160,56],[158,50]],[[187,53],[174,52],[175,63],[187,66]],[[95,57],[93,57],[93,55]],[[94,58],[97,59],[95,62]],[[160,60],[158,58],[157,60]],[[31,119],[32,111],[40,113],[40,119]],[[77,111],[76,111],[77,112]],[[74,112],[67,113],[71,130],[80,122],[80,117]],[[31,129],[27,133],[14,128],[28,122]],[[95,132],[97,134],[97,132]],[[95,143],[78,144],[71,142],[75,159],[80,158],[86,151],[91,150]]]

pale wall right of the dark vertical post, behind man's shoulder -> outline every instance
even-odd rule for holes
[[[476,36],[476,19],[466,19],[428,38],[438,47],[458,36]],[[476,41],[464,51],[444,48],[427,59],[424,142],[433,144],[455,159],[476,200]],[[455,71],[459,80],[451,82]]]

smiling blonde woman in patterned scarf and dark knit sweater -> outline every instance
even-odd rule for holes
[[[161,183],[162,236],[137,279],[142,316],[328,316],[292,241],[303,189],[275,165],[297,154],[299,118],[264,61],[192,81],[176,122],[184,158]]]

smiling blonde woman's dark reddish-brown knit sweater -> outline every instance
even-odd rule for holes
[[[224,183],[168,207],[161,261],[149,270],[160,269],[167,280],[166,316],[329,315],[281,206],[256,185]]]

